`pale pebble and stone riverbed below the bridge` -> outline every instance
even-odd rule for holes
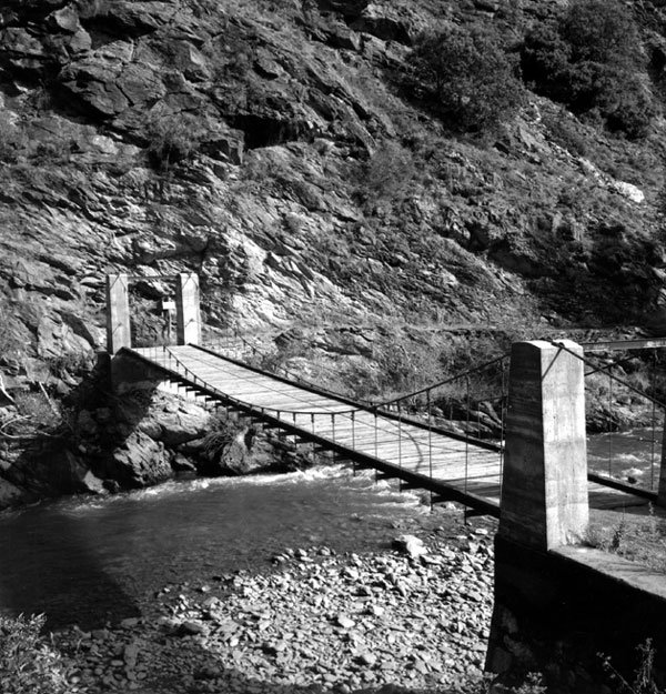
[[[483,668],[492,531],[431,525],[386,552],[289,549],[265,572],[165,585],[141,617],[54,645],[91,694],[456,691]]]

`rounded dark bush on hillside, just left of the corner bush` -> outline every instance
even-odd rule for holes
[[[408,64],[416,88],[456,130],[490,129],[523,102],[515,66],[487,31],[451,26],[424,33]]]

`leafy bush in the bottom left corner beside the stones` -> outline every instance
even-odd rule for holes
[[[16,620],[0,615],[0,692],[69,694],[77,691],[67,683],[60,655],[40,637],[44,622],[44,615]]]

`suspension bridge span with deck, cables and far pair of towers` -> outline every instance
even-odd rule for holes
[[[110,302],[110,351],[129,356],[147,370],[158,370],[174,392],[234,410],[263,428],[280,430],[294,446],[311,445],[314,451],[327,451],[354,467],[372,469],[377,477],[398,480],[401,489],[428,492],[432,503],[453,501],[473,513],[500,516],[508,356],[389,402],[357,402],[289,373],[270,373],[242,361],[239,354],[234,359],[229,341],[200,345],[198,284],[196,291],[192,291],[191,278],[179,279],[178,345],[132,348],[125,302],[121,306],[121,314],[127,315],[121,323],[122,340],[119,343],[117,339],[113,346],[115,319]],[[127,293],[127,279],[120,281],[120,289]],[[238,343],[236,338],[232,344]],[[607,343],[603,349],[619,346],[620,343]],[[591,373],[595,371],[598,369]],[[484,378],[488,373],[496,392],[491,392],[493,386]],[[473,396],[474,388],[487,392]],[[461,394],[462,422],[460,412],[454,416],[452,409],[447,416],[442,411],[442,395],[452,389]],[[653,414],[655,403],[653,400]],[[488,420],[498,434],[495,441],[471,435],[471,431],[481,432]],[[612,475],[591,472],[588,481],[592,507],[627,507],[657,499],[656,492],[630,486]]]

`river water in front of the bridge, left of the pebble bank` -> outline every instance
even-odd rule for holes
[[[261,571],[286,547],[379,550],[428,513],[342,466],[42,503],[0,514],[0,612],[44,612],[52,626],[114,622],[164,586]]]

